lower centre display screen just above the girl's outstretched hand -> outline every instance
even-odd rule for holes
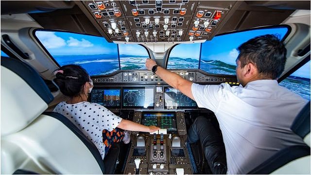
[[[146,126],[155,125],[167,129],[168,133],[177,133],[175,113],[143,113],[142,124]]]

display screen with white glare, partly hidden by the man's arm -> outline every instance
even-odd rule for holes
[[[164,93],[166,109],[197,108],[195,101],[175,88],[165,88]]]

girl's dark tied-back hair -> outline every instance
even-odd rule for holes
[[[62,66],[55,72],[56,78],[53,81],[69,97],[79,96],[86,82],[89,82],[88,73],[79,65]]]

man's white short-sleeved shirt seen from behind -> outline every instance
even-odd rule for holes
[[[276,80],[257,80],[244,88],[192,84],[199,107],[213,111],[225,143],[227,174],[246,174],[278,150],[304,144],[290,129],[307,101]]]

